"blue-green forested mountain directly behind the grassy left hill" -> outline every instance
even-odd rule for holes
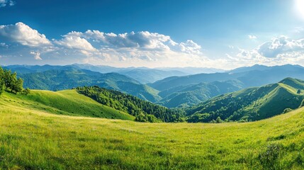
[[[123,91],[152,102],[160,99],[157,90],[117,73],[101,74],[85,69],[64,67],[64,69],[51,69],[30,74],[22,74],[21,72],[19,75],[24,80],[24,86],[30,89],[57,91],[77,86],[97,85]]]

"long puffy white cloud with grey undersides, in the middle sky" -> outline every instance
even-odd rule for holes
[[[131,33],[103,33],[98,30],[87,30],[84,33],[72,31],[64,37],[72,36],[89,40],[99,47],[109,48],[137,48],[141,50],[173,50],[186,53],[199,53],[201,46],[187,40],[186,42],[174,42],[170,36],[148,31]]]

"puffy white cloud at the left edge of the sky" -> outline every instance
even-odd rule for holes
[[[37,30],[33,30],[24,23],[0,26],[0,38],[30,47],[52,45],[45,35],[38,33]]]

